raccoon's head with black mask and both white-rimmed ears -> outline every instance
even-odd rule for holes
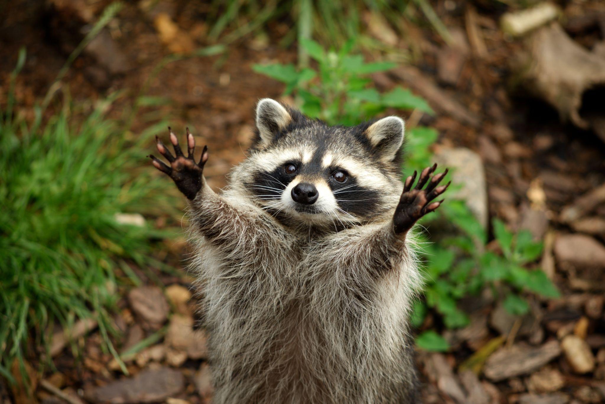
[[[234,173],[255,204],[279,220],[337,230],[392,214],[402,119],[329,127],[263,99],[256,120],[250,156]]]

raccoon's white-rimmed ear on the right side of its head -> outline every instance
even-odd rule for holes
[[[365,130],[365,136],[378,152],[379,159],[390,162],[395,159],[404,141],[405,124],[398,116],[387,116],[374,122]]]

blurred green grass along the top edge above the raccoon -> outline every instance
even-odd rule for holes
[[[213,1],[206,21],[211,25],[211,41],[230,43],[249,33],[260,33],[268,25],[285,23],[293,29],[283,36],[281,44],[295,39],[318,38],[322,43],[341,46],[349,38],[360,38],[368,48],[393,50],[390,45],[365,35],[364,14],[384,16],[385,24],[401,37],[405,35],[402,21],[430,25],[445,41],[451,36],[428,0],[341,0],[341,1]],[[401,52],[401,50],[399,50]],[[299,62],[306,67],[307,56],[299,48]]]

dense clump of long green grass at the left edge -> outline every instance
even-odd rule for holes
[[[119,122],[105,117],[113,99],[98,102],[81,124],[68,112],[73,105],[28,123],[13,111],[24,61],[22,51],[0,107],[0,374],[9,380],[15,360],[25,373],[24,360],[39,356],[28,348],[31,337],[50,346],[56,322],[70,329],[78,319],[96,319],[117,357],[109,339],[113,290],[140,283],[131,265],[168,269],[154,258],[152,242],[173,234],[121,219],[171,205],[169,196],[157,197],[162,185],[151,170],[142,169],[143,142],[155,129],[128,141]]]

